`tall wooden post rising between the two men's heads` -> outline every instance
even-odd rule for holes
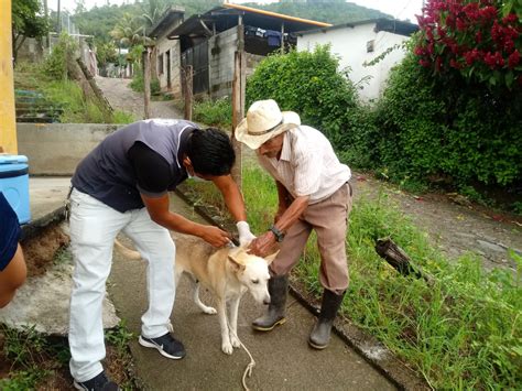
[[[244,54],[244,28],[238,25],[238,50],[233,57],[232,82],[232,146],[236,152],[236,164],[232,167],[232,178],[242,189],[242,150],[241,143],[236,140],[235,133],[239,122],[244,117],[244,95],[247,85],[247,56]]]

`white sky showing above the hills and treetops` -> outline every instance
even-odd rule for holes
[[[124,2],[134,2],[134,0],[85,0],[85,7],[90,9],[95,6],[102,6],[109,1],[111,4],[122,4]],[[237,4],[250,2],[252,0],[231,0]],[[58,0],[47,0],[50,9],[57,9]],[[259,3],[269,3],[271,0],[258,0]],[[415,14],[421,14],[423,0],[349,0],[358,6],[372,8],[384,13],[393,15],[395,19],[410,19],[411,22],[416,23]],[[61,0],[61,8],[73,11],[75,9],[75,0]]]

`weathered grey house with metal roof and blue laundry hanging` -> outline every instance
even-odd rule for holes
[[[183,95],[182,77],[188,66],[195,96],[229,96],[236,51],[244,48],[249,75],[268,54],[295,47],[297,31],[331,25],[229,3],[187,20],[181,10],[170,11],[149,36],[156,37],[160,87],[174,97]]]

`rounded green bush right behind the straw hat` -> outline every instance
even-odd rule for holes
[[[339,144],[352,133],[349,126],[358,113],[358,99],[352,83],[337,70],[338,63],[328,46],[271,55],[247,82],[247,107],[254,100],[274,99],[281,110],[296,111],[304,124]]]

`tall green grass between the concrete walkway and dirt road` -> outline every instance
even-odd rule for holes
[[[211,184],[193,183],[199,203],[224,208]],[[263,232],[276,210],[273,180],[243,170],[243,194],[253,232]],[[402,276],[374,251],[390,237],[434,284]],[[382,193],[362,197],[347,236],[350,287],[342,313],[379,338],[435,389],[520,389],[522,384],[522,258],[516,273],[486,273],[471,254],[449,262]],[[315,237],[294,270],[308,293],[320,296]]]

